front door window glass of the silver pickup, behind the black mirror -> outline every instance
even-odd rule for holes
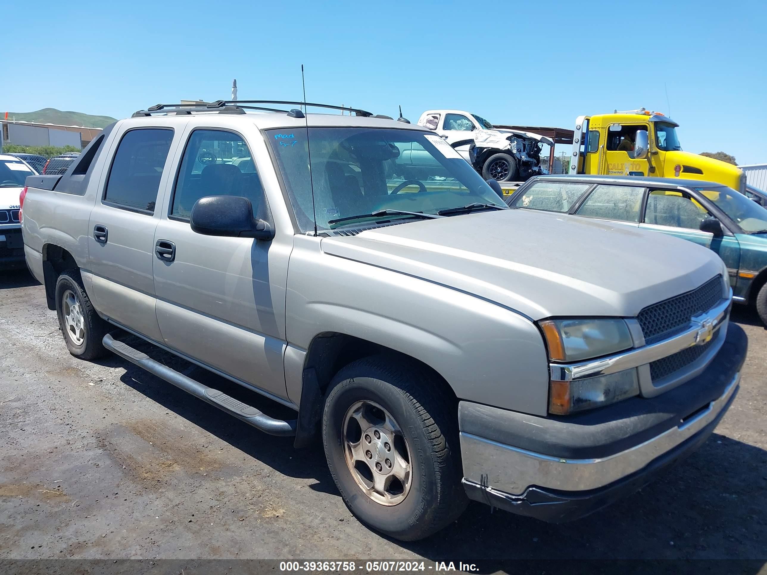
[[[242,136],[223,130],[194,130],[189,136],[171,215],[189,218],[206,195],[240,195],[250,200],[256,218],[268,219],[261,180]]]

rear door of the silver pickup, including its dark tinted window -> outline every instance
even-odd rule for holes
[[[179,137],[163,120],[157,122],[129,126],[117,135],[117,151],[91,212],[88,254],[99,311],[161,341],[152,270],[154,230],[160,221],[155,207],[162,200],[167,159]]]

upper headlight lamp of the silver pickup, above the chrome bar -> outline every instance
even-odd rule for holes
[[[553,361],[580,361],[634,347],[624,320],[545,320],[541,329]]]

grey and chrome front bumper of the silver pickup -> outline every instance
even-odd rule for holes
[[[739,389],[748,340],[729,325],[703,373],[653,398],[538,417],[459,404],[470,498],[545,521],[571,521],[645,485],[713,432]]]

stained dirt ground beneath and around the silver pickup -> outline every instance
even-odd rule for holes
[[[750,559],[763,570],[767,330],[745,308],[733,319],[749,335],[739,396],[682,465],[574,523],[471,504],[403,544],[351,516],[321,449],[297,451],[118,357],[71,357],[42,286],[0,272],[0,560]]]

